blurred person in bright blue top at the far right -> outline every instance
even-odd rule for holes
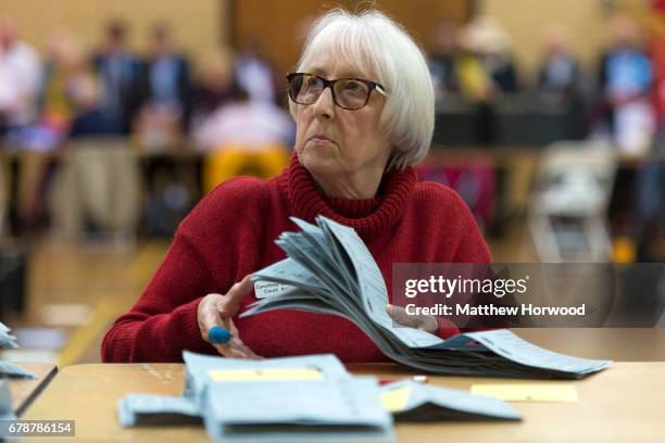
[[[616,15],[611,33],[613,41],[599,69],[603,123],[622,150],[640,153],[650,147],[655,130],[651,60],[632,17]]]

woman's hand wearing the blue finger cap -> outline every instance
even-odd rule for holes
[[[229,358],[261,358],[252,350],[250,350],[238,334],[238,329],[234,325],[231,318],[238,313],[240,301],[252,289],[252,280],[250,276],[246,276],[242,280],[234,284],[226,294],[208,294],[199,303],[197,317],[199,320],[199,330],[201,337],[206,342],[211,343],[208,334],[213,326],[219,326],[231,333],[231,339],[228,343],[216,344],[211,343],[217,352]]]

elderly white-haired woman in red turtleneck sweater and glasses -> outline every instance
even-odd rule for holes
[[[340,317],[290,309],[238,317],[256,300],[248,276],[285,258],[274,240],[298,230],[290,216],[313,223],[322,214],[354,228],[387,288],[393,263],[489,262],[460,197],[417,182],[411,167],[429,149],[434,89],[421,50],[399,25],[376,11],[326,13],[288,81],[297,124],[290,165],[271,179],[225,181],[199,203],[138,302],[108,332],[105,362],[175,362],[183,350],[386,359]],[[405,320],[389,311],[443,338],[457,332],[434,317]],[[215,325],[233,332],[229,343],[208,341]]]

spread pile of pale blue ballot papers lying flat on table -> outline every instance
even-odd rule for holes
[[[215,440],[387,441],[394,439],[394,419],[520,419],[486,395],[411,382],[379,387],[376,378],[347,372],[334,355],[183,357],[183,395],[129,394],[118,402],[121,425],[202,422]]]

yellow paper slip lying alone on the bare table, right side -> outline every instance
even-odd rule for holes
[[[491,395],[506,402],[577,402],[574,384],[473,384],[472,394]]]

